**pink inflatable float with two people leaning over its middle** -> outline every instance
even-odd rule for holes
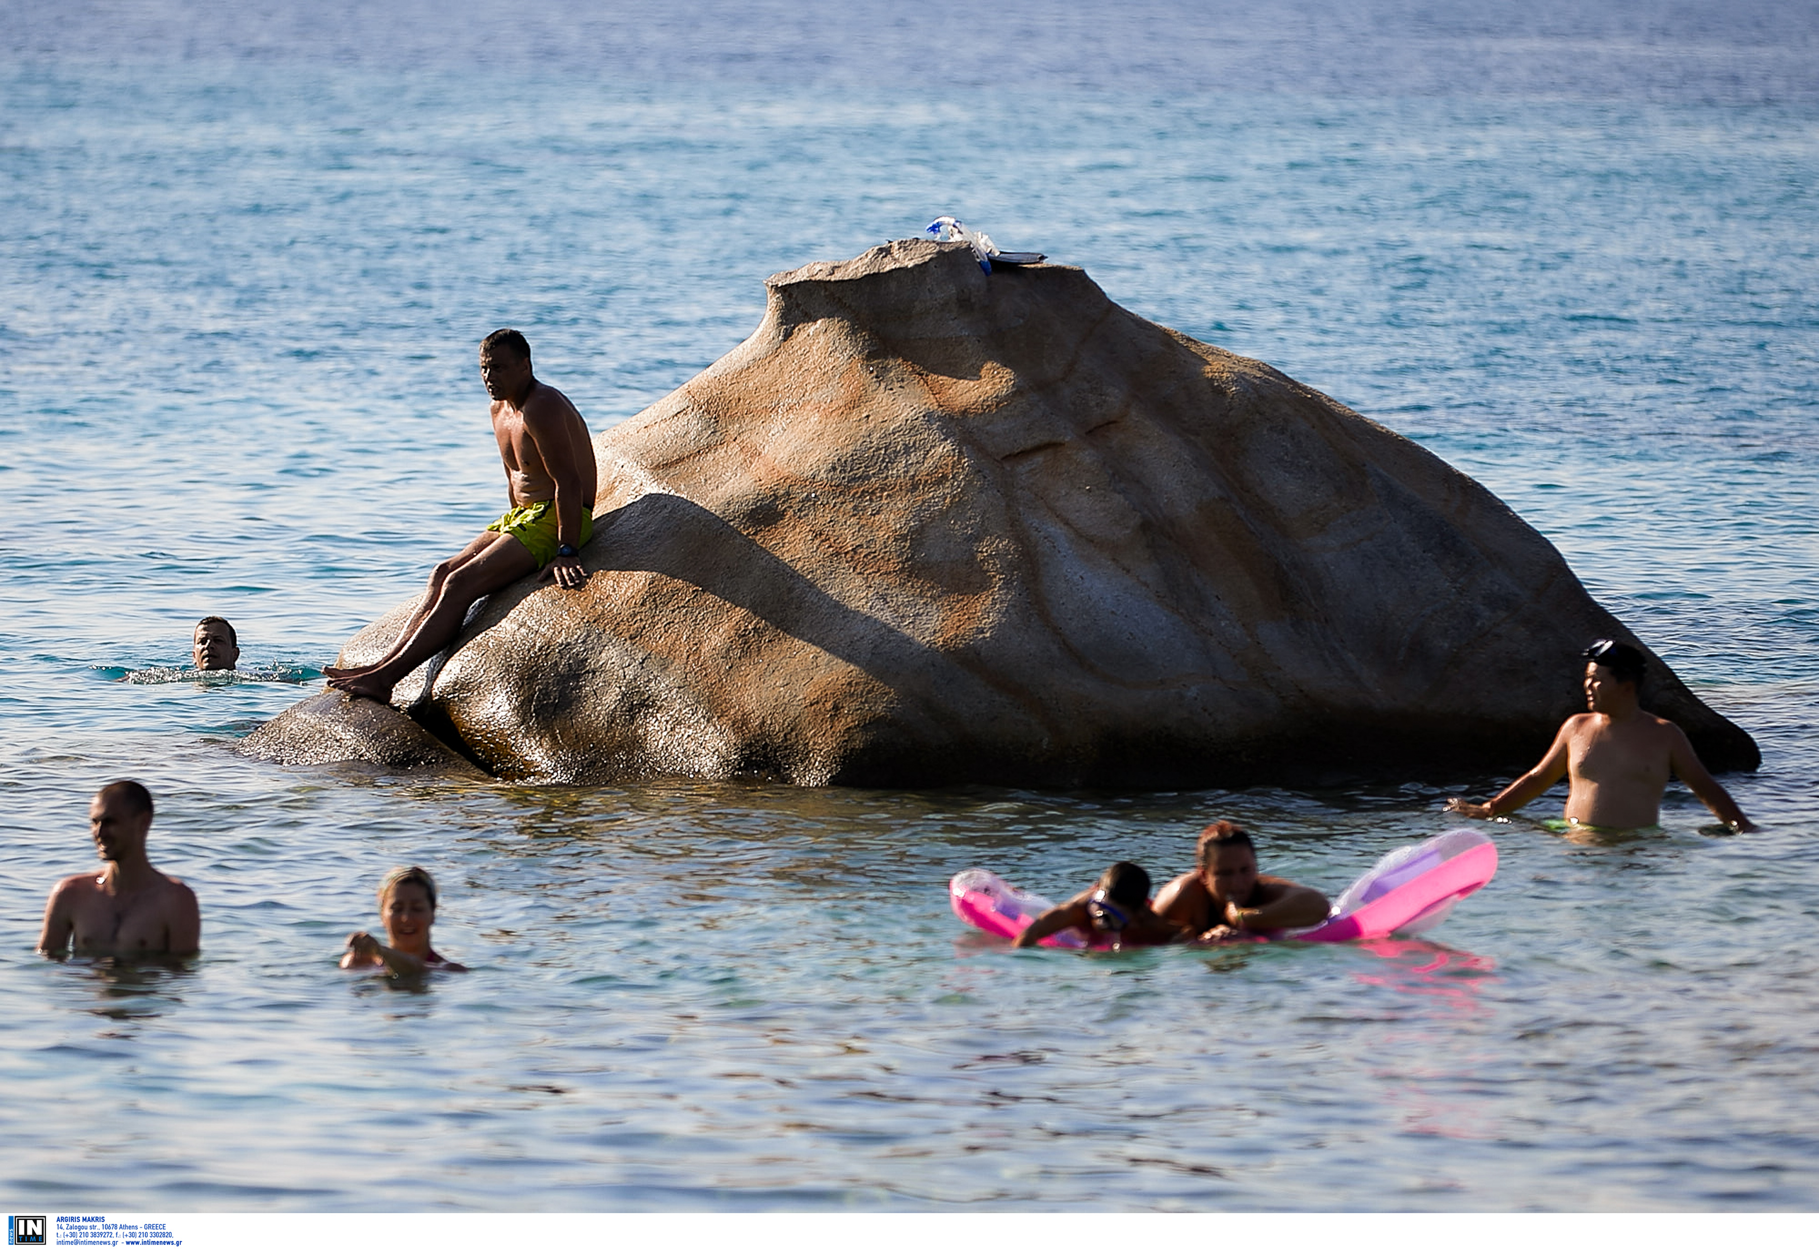
[[[1282,936],[1301,942],[1357,942],[1392,933],[1415,936],[1444,920],[1453,904],[1482,889],[1495,874],[1497,847],[1488,836],[1475,829],[1441,833],[1384,854],[1339,894],[1324,924]],[[984,867],[971,867],[948,882],[948,900],[957,916],[995,936],[1017,936],[1053,905]],[[1039,945],[1082,949],[1088,942],[1064,929],[1044,936]]]

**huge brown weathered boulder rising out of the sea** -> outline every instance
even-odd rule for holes
[[[497,595],[435,673],[418,711],[497,773],[1526,767],[1579,651],[1633,640],[1486,489],[1079,269],[899,242],[768,287],[746,344],[595,440],[588,587]],[[1755,765],[1664,665],[1644,702]]]

